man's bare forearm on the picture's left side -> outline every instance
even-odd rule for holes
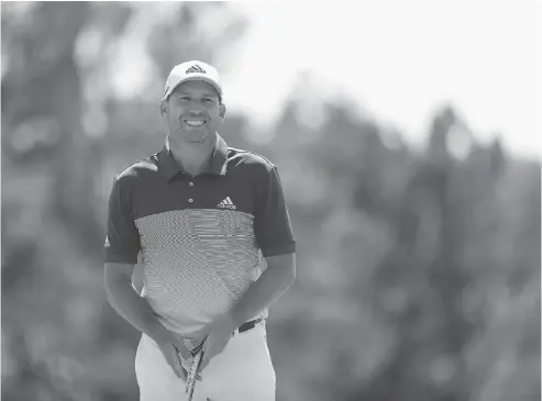
[[[106,289],[111,307],[132,326],[152,338],[163,333],[165,327],[147,301],[132,287],[130,279],[125,277],[110,279],[107,281]]]

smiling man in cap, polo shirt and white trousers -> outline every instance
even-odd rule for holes
[[[186,400],[189,349],[206,337],[193,400],[275,400],[265,318],[296,275],[278,170],[217,133],[225,105],[210,65],[176,66],[159,111],[164,148],[114,178],[106,238],[109,302],[142,332],[141,401]]]

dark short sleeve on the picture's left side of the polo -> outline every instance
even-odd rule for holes
[[[114,178],[109,197],[106,261],[136,264],[141,249],[140,234],[132,213],[129,182]]]

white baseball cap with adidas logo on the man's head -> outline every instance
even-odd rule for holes
[[[193,80],[201,80],[212,85],[219,92],[220,98],[222,98],[222,85],[220,83],[217,68],[207,63],[191,60],[179,64],[172,69],[166,80],[163,99],[167,99],[180,83]]]

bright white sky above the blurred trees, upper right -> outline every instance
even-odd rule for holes
[[[540,2],[231,5],[250,24],[224,52],[225,101],[254,124],[275,123],[300,74],[310,73],[308,99],[349,98],[414,145],[425,141],[434,111],[451,103],[478,141],[499,134],[513,154],[541,156]]]

